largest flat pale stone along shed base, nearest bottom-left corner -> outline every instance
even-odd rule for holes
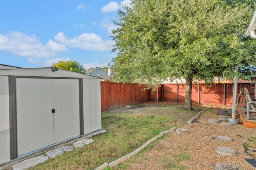
[[[29,159],[23,160],[22,162],[12,165],[12,169],[26,170],[28,168],[33,168],[37,164],[43,163],[46,160],[48,160],[48,156],[44,156],[44,155],[36,156],[34,158],[29,158]]]

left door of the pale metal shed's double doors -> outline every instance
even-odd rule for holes
[[[16,78],[18,155],[54,143],[52,79]]]

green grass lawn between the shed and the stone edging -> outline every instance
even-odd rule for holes
[[[104,162],[110,163],[132,152],[162,131],[185,124],[202,110],[198,108],[189,111],[181,106],[144,105],[133,113],[133,107],[103,111],[102,128],[107,133],[92,137],[94,142],[90,145],[65,152],[39,164],[35,169],[94,169]]]

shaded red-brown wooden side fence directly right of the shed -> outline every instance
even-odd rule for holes
[[[101,110],[148,102],[150,93],[144,88],[144,84],[100,82]]]

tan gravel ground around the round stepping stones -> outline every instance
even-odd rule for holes
[[[198,123],[192,123],[192,126],[184,125],[188,132],[177,135],[172,132],[165,139],[160,141],[148,151],[142,152],[136,160],[127,162],[128,170],[149,170],[149,169],[183,169],[174,166],[175,155],[187,152],[190,160],[178,162],[186,170],[213,170],[218,162],[226,162],[240,167],[242,170],[255,170],[244,158],[251,158],[244,152],[242,143],[246,139],[242,137],[256,137],[256,130],[245,128],[242,124],[225,127],[208,122],[208,119],[218,119],[217,109],[206,111],[198,118]],[[232,142],[220,141],[218,136],[228,136],[233,139]],[[242,137],[239,137],[241,135]],[[223,156],[215,152],[218,146],[225,146],[235,149],[236,156]],[[255,146],[254,146],[255,147]],[[170,162],[168,162],[170,160]],[[169,164],[169,166],[168,166]],[[171,164],[171,166],[170,166]]]

